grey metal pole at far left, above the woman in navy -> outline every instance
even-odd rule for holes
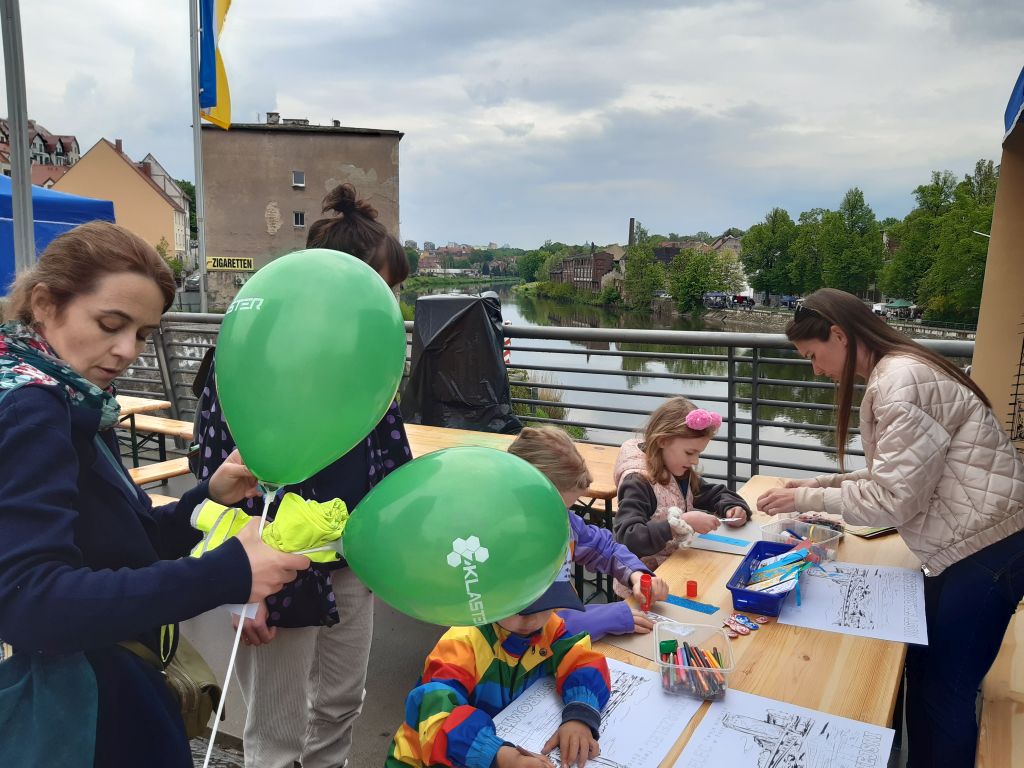
[[[17,0],[3,4],[3,62],[7,75],[7,123],[10,127],[11,218],[14,224],[14,271],[20,274],[36,263],[36,234],[32,217],[32,164],[29,158],[29,108],[25,95],[25,54],[22,13]],[[6,286],[0,286],[6,292]]]

